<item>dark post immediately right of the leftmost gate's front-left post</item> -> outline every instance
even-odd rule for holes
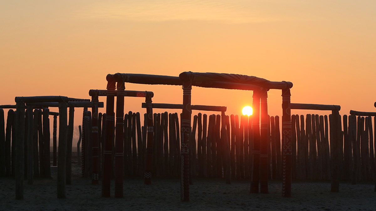
[[[33,120],[33,109],[28,107],[26,110],[28,127],[27,127],[27,184],[33,184],[34,178],[34,161],[33,161],[33,132],[34,132],[34,120]]]

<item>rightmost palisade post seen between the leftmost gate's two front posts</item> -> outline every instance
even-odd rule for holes
[[[43,109],[43,163],[44,177],[51,178],[50,164],[50,109]],[[64,155],[65,156],[65,155]]]

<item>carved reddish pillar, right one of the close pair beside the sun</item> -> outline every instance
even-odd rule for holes
[[[261,95],[260,193],[268,193],[268,92]]]

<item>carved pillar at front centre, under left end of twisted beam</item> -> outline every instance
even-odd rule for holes
[[[181,177],[180,177],[180,199],[189,201],[189,141],[191,132],[191,81],[183,83],[183,110],[181,119]]]

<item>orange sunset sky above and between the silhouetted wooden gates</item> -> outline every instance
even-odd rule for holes
[[[15,96],[89,99],[89,89],[106,89],[106,75],[117,72],[193,71],[291,81],[291,102],[340,105],[341,115],[376,112],[375,11],[374,0],[0,0],[0,104]],[[182,103],[180,86],[126,89]],[[125,112],[145,112],[143,101],[126,98]],[[271,116],[282,115],[281,103],[281,91],[270,90]],[[252,91],[193,87],[192,104],[241,115]]]

